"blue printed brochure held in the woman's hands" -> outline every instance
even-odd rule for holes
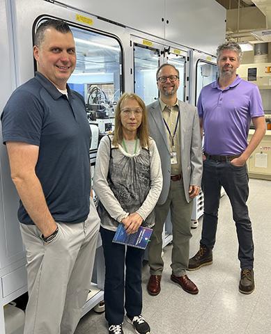
[[[139,230],[133,234],[127,234],[123,224],[119,224],[113,238],[113,242],[127,246],[146,249],[150,236],[153,233],[151,228],[139,227]]]

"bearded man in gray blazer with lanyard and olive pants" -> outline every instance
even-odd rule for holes
[[[148,248],[150,279],[149,294],[160,293],[162,260],[162,230],[171,210],[173,249],[171,280],[189,294],[199,292],[189,280],[186,269],[189,260],[192,199],[199,194],[202,174],[201,135],[196,107],[177,98],[179,72],[173,65],[163,64],[156,73],[160,100],[147,106],[150,136],[157,144],[162,162],[163,188],[155,207],[155,226]]]

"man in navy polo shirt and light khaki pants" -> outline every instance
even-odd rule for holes
[[[99,218],[90,203],[91,130],[84,99],[67,85],[76,64],[68,24],[40,24],[33,54],[36,76],[15,90],[1,115],[26,249],[24,334],[72,334],[88,295],[98,237]]]

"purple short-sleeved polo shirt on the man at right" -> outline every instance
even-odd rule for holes
[[[218,81],[203,87],[197,107],[199,118],[203,118],[204,151],[208,154],[244,152],[251,118],[264,115],[258,87],[239,76],[224,90]]]

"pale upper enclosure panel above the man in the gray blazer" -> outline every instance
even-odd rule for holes
[[[226,9],[213,0],[166,0],[165,38],[215,54],[224,42]]]

